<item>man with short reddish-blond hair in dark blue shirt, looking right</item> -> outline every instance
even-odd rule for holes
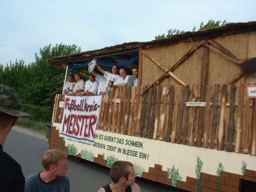
[[[70,184],[66,177],[69,168],[67,158],[67,154],[62,150],[47,150],[42,158],[44,171],[26,178],[24,192],[69,192]]]

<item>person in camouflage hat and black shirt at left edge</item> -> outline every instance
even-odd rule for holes
[[[0,191],[24,190],[25,181],[20,164],[3,151],[3,146],[18,117],[29,115],[21,111],[18,92],[8,85],[0,84]]]

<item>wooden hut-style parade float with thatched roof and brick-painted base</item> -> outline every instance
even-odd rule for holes
[[[241,67],[256,57],[256,22],[124,43],[47,63],[82,64],[91,58],[118,63],[136,55],[138,62],[124,68],[131,72],[138,66],[138,87],[107,88],[96,130],[102,138],[116,138],[114,143],[96,138],[96,143],[120,150],[60,138],[61,94],[55,99],[50,148],[68,152],[73,144],[78,149],[73,155],[104,166],[128,160],[140,177],[193,192],[234,192],[244,180],[256,182],[256,98],[247,98],[246,90],[256,85],[256,62],[249,73]]]

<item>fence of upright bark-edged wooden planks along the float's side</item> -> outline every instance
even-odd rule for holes
[[[205,107],[186,106],[202,102],[200,86],[153,86],[138,109],[136,87],[110,88],[102,98],[97,129],[256,155],[256,99],[246,98],[247,85],[207,85]],[[146,89],[141,87],[141,92]],[[56,95],[52,118],[56,123],[62,120],[61,100],[62,95]]]

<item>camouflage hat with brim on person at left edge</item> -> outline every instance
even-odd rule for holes
[[[12,116],[30,116],[30,114],[21,111],[18,92],[4,84],[0,84],[0,112]]]

